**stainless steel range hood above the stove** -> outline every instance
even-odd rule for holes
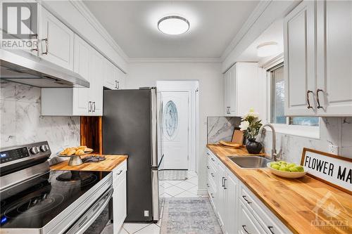
[[[87,87],[89,82],[77,74],[26,51],[0,49],[0,79],[41,88]]]

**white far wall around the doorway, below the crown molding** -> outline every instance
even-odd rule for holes
[[[199,80],[199,190],[206,190],[206,117],[222,116],[224,79],[220,63],[131,63],[127,89],[158,80]]]

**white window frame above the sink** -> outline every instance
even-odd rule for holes
[[[283,53],[279,56],[273,58],[272,60],[268,61],[267,63],[263,64],[263,69],[265,72],[265,79],[266,79],[266,99],[267,99],[267,122],[272,124],[275,127],[275,131],[280,134],[288,134],[292,136],[301,136],[307,138],[320,138],[320,124],[321,118],[319,118],[319,125],[318,126],[304,126],[304,125],[294,125],[289,124],[289,117],[286,118],[286,124],[275,124],[271,122],[271,115],[272,115],[272,70],[275,68],[281,67],[284,65],[284,55]],[[268,129],[271,131],[271,129]]]

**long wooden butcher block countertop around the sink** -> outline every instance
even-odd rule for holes
[[[226,157],[249,155],[246,149],[233,149],[221,145],[207,145],[207,147],[293,233],[352,233],[352,195],[310,176],[287,179],[271,174],[269,169],[241,169]],[[326,201],[325,196],[328,197]],[[337,209],[339,214],[332,220],[347,222],[347,226],[331,228],[312,226],[311,221],[315,221],[313,209],[319,201]],[[319,221],[330,220],[321,213],[318,213]]]

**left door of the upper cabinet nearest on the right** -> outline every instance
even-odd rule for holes
[[[284,60],[285,115],[315,115],[315,1],[284,18]]]

